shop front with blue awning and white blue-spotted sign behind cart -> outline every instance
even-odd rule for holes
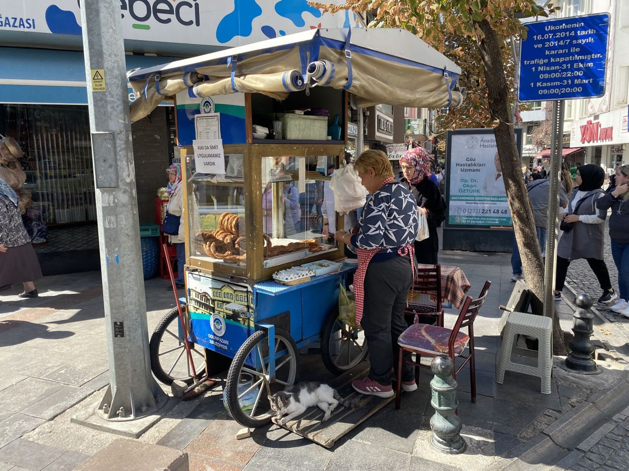
[[[238,19],[227,3],[121,3],[126,68],[152,67],[313,27],[357,24],[352,13],[322,14],[298,4],[280,12],[272,7],[240,12]],[[25,224],[44,274],[98,269],[79,3],[16,1],[2,13],[16,21],[0,23],[0,134],[16,138],[25,153],[25,188],[34,202]],[[135,99],[133,90],[128,92],[130,101]],[[172,103],[164,102],[131,126],[140,222],[155,222],[153,197],[167,183],[165,168],[175,158],[175,113]]]

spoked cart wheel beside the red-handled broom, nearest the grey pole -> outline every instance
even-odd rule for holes
[[[185,309],[185,306],[182,306]],[[183,336],[179,335],[179,311],[177,308],[169,311],[160,320],[151,335],[148,344],[151,358],[151,369],[159,381],[170,386],[175,379],[192,384],[192,368],[186,353]],[[192,361],[197,375],[205,368],[203,348],[190,343]]]

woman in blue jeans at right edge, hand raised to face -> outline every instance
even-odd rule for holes
[[[620,299],[611,310],[629,317],[629,165],[616,167],[615,188],[596,201],[610,215],[611,256],[618,268]]]

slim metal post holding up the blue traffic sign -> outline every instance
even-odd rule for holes
[[[548,221],[546,227],[546,263],[544,267],[544,315],[552,317],[555,310],[555,261],[557,261],[557,213],[564,134],[564,101],[552,104],[552,131],[550,134],[550,169],[548,173]]]

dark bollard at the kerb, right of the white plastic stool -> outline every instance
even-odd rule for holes
[[[594,333],[594,315],[589,312],[593,303],[592,298],[587,295],[577,296],[575,301],[577,310],[572,315],[574,338],[569,344],[570,353],[565,359],[565,366],[580,373],[596,372],[596,362],[592,357],[594,344],[589,339],[590,335]]]

